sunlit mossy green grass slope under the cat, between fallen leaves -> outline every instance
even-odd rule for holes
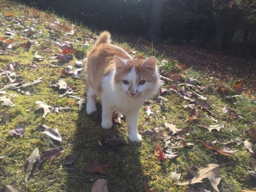
[[[116,124],[111,130],[103,130],[100,127],[101,104],[97,102],[98,111],[92,115],[87,115],[84,108],[78,112],[77,100],[72,97],[59,97],[63,92],[58,89],[50,88],[52,81],[64,79],[67,84],[72,85],[72,90],[75,90],[74,96],[85,97],[84,81],[86,78],[72,78],[69,75],[61,73],[61,70],[66,69],[68,65],[75,67],[76,61],[82,61],[94,41],[95,33],[88,28],[83,28],[68,22],[64,18],[59,18],[54,14],[48,14],[24,5],[5,1],[0,4],[1,23],[5,27],[0,28],[0,37],[4,40],[0,41],[2,48],[0,55],[0,69],[7,70],[12,61],[20,63],[19,69],[15,70],[16,79],[22,79],[26,83],[42,77],[42,82],[30,89],[35,90],[34,95],[23,95],[16,92],[14,89],[5,89],[6,94],[0,96],[13,97],[15,106],[7,107],[0,105],[0,113],[7,110],[11,113],[9,122],[6,124],[4,120],[0,122],[0,155],[9,154],[7,157],[0,159],[0,189],[5,185],[15,185],[16,187],[26,191],[90,191],[93,183],[99,179],[106,179],[110,191],[144,191],[143,183],[148,179],[148,185],[151,189],[157,191],[186,191],[193,189],[198,191],[199,187],[209,191],[214,189],[207,179],[203,183],[179,186],[175,185],[175,181],[170,178],[171,172],[181,174],[180,181],[185,181],[189,177],[185,166],[206,166],[207,164],[217,161],[221,166],[220,175],[222,180],[218,185],[220,191],[240,191],[242,189],[255,190],[255,184],[250,178],[247,170],[252,170],[251,165],[255,164],[254,156],[243,144],[230,143],[227,145],[222,142],[227,142],[232,139],[239,138],[242,141],[248,140],[255,144],[255,136],[252,133],[255,131],[255,101],[254,95],[251,98],[246,94],[241,97],[226,98],[225,96],[236,95],[236,92],[231,89],[232,82],[227,82],[228,91],[221,91],[221,80],[209,78],[208,74],[193,69],[182,70],[177,67],[179,61],[172,58],[164,57],[163,54],[158,54],[153,48],[153,44],[148,46],[150,55],[159,55],[159,69],[162,73],[168,75],[169,72],[181,75],[181,79],[185,82],[189,78],[196,79],[197,84],[205,86],[202,91],[197,89],[183,88],[179,85],[178,80],[165,80],[163,88],[169,89],[179,87],[188,91],[195,91],[200,95],[208,95],[206,102],[211,107],[211,113],[200,109],[196,105],[196,109],[200,111],[200,118],[192,122],[187,121],[186,117],[190,115],[189,109],[184,109],[184,104],[189,104],[189,101],[176,96],[168,91],[163,97],[168,101],[164,102],[164,110],[162,105],[157,102],[145,103],[152,105],[154,115],[148,116],[142,108],[140,111],[138,130],[151,130],[155,127],[162,127],[166,135],[171,135],[164,127],[165,122],[177,124],[179,129],[190,127],[189,135],[185,141],[194,143],[194,146],[183,146],[174,148],[173,152],[178,153],[175,160],[159,160],[154,155],[155,147],[158,143],[164,146],[161,138],[151,141],[146,135],[142,135],[141,143],[133,143],[127,139],[126,123],[122,119],[122,124]],[[11,13],[11,16],[7,16]],[[7,31],[14,33],[11,36]],[[3,48],[5,40],[11,39],[13,47],[11,49]],[[32,41],[30,48],[23,48],[20,45],[28,40]],[[118,39],[117,39],[118,40]],[[140,39],[139,39],[140,40]],[[135,47],[139,46],[139,40]],[[64,42],[72,42],[76,52],[71,53],[70,59],[58,59],[56,44]],[[134,50],[123,46],[125,50]],[[48,48],[51,52],[44,53],[42,50]],[[35,53],[40,55],[43,60],[39,61],[35,58]],[[145,53],[137,52],[135,57],[143,57]],[[162,60],[166,60],[163,62]],[[31,69],[28,66],[31,63],[36,63],[38,68]],[[53,65],[59,68],[52,67]],[[82,72],[83,75],[86,75]],[[9,83],[9,78],[6,76],[0,77],[0,87]],[[182,81],[181,81],[182,82]],[[214,82],[216,86],[212,86]],[[33,111],[36,108],[35,101],[43,101],[51,106],[62,106],[73,108],[73,110],[62,110],[59,113],[51,112],[47,114],[45,119],[42,119],[42,110]],[[156,100],[156,98],[153,98]],[[236,103],[236,104],[233,104]],[[223,106],[228,106],[242,118],[232,118],[228,114],[224,114]],[[2,115],[3,116],[3,115]],[[198,126],[199,123],[217,124],[210,117],[218,119],[219,123],[224,123],[224,128],[220,132],[213,130],[209,132],[207,129]],[[55,141],[39,130],[40,123],[43,123],[53,129],[58,129],[62,136],[62,142]],[[8,131],[17,126],[25,127],[25,136],[17,135],[10,136]],[[119,146],[116,150],[110,151],[106,148],[104,140],[111,136],[122,137],[125,142],[129,143],[124,146]],[[214,152],[202,144],[199,140],[206,142],[218,141],[216,147],[230,147],[232,150],[237,150],[234,156],[215,155]],[[103,146],[98,144],[100,141]],[[177,141],[178,142],[178,141]],[[54,161],[47,161],[42,168],[35,168],[25,185],[25,162],[30,156],[34,148],[39,148],[39,153],[42,154],[48,148],[64,147],[65,151]],[[76,154],[75,162],[71,165],[63,165],[63,160],[68,154]],[[99,159],[99,163],[115,163],[114,166],[105,168],[105,175],[98,173],[88,173],[85,167],[95,158]]]

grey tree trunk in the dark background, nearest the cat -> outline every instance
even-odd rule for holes
[[[160,40],[163,3],[164,0],[153,0],[152,3],[150,28],[146,35],[152,41]]]

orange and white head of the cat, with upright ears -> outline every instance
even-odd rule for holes
[[[156,58],[121,59],[114,56],[116,86],[130,98],[148,98],[156,93],[159,77]]]

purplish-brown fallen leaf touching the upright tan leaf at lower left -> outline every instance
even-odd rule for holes
[[[46,162],[47,159],[51,159],[51,162],[53,162],[58,156],[60,156],[64,152],[63,147],[59,148],[49,148],[44,152],[44,154],[40,155],[40,161],[38,163],[38,166],[41,167],[42,164]]]

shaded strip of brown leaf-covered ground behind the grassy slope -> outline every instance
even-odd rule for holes
[[[131,47],[142,52],[150,51],[151,41],[140,37],[117,34],[118,39],[130,42]],[[116,34],[112,35],[117,38]],[[190,45],[168,45],[165,42],[153,43],[153,49],[157,54],[177,59],[185,63],[186,67],[205,71],[225,82],[241,81],[244,86],[256,92],[256,58],[242,57],[227,50],[213,50],[198,48]]]

